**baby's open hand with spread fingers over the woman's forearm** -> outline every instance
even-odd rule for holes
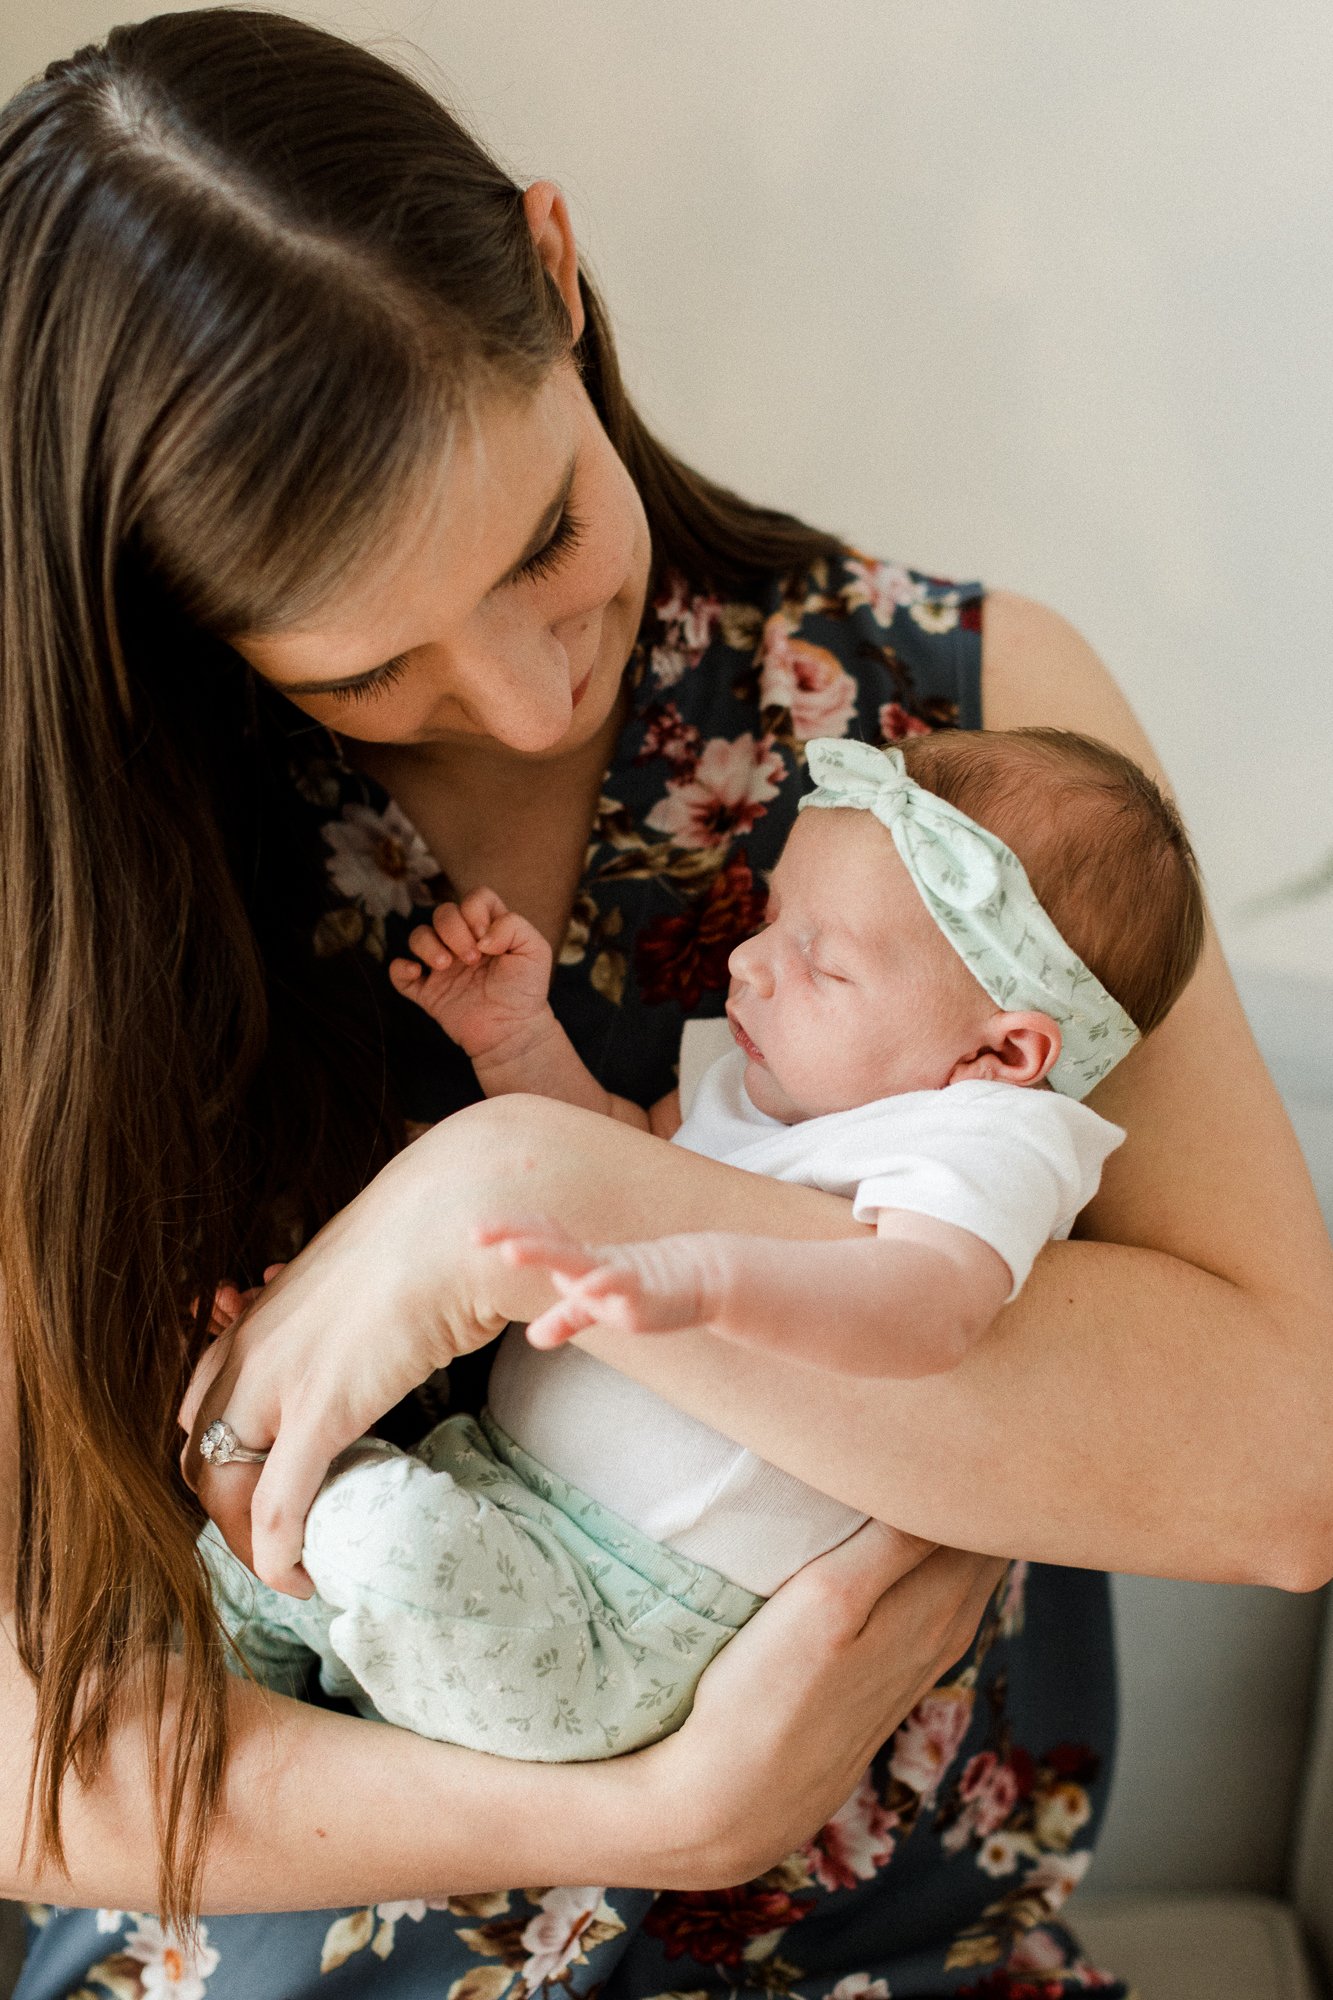
[[[709,1316],[715,1290],[707,1236],[644,1244],[580,1244],[556,1222],[494,1222],[474,1230],[508,1264],[550,1272],[560,1294],[528,1324],[534,1348],[558,1348],[584,1326],[620,1334],[675,1334]]]

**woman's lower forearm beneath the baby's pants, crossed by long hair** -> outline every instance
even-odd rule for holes
[[[228,1706],[234,1750],[202,1914],[438,1900],[536,1880],[648,1886],[671,1872],[666,1854],[644,1852],[634,1760],[514,1764],[246,1682],[228,1684]],[[6,1644],[0,1894],[152,1910],[158,1852],[140,1720],[114,1732],[86,1790],[68,1788],[64,1874],[20,1854],[32,1710],[32,1686]]]

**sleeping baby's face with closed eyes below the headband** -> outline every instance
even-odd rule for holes
[[[731,954],[727,1016],[757,1110],[783,1124],[941,1090],[995,1012],[869,812],[803,812],[765,928]]]

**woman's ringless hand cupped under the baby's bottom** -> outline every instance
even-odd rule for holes
[[[867,1522],[783,1584],[709,1666],[685,1728],[620,1764],[656,1800],[656,1886],[725,1888],[803,1846],[963,1658],[1003,1574]]]

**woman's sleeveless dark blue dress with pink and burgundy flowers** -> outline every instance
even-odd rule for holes
[[[813,736],[897,742],[981,726],[981,586],[847,552],[745,600],[673,580],[648,606],[552,1004],[594,1074],[650,1104],[681,1028],[717,1016],[757,928]],[[314,948],[376,966],[444,884],[398,806],[326,732],[292,778],[328,856]],[[478,1096],[466,1058],[382,978],[404,1104]],[[466,1374],[452,1370],[450,1374]],[[456,1386],[450,1384],[456,1394]],[[394,1438],[438,1416],[394,1412]],[[1107,1578],[1015,1562],[967,1658],[853,1798],[757,1882],[699,1894],[512,1888],[290,1916],[210,1916],[186,1946],[148,1914],[30,1910],[16,2000],[1061,2000],[1129,1988],[1057,1922],[1083,1880],[1111,1774]]]

